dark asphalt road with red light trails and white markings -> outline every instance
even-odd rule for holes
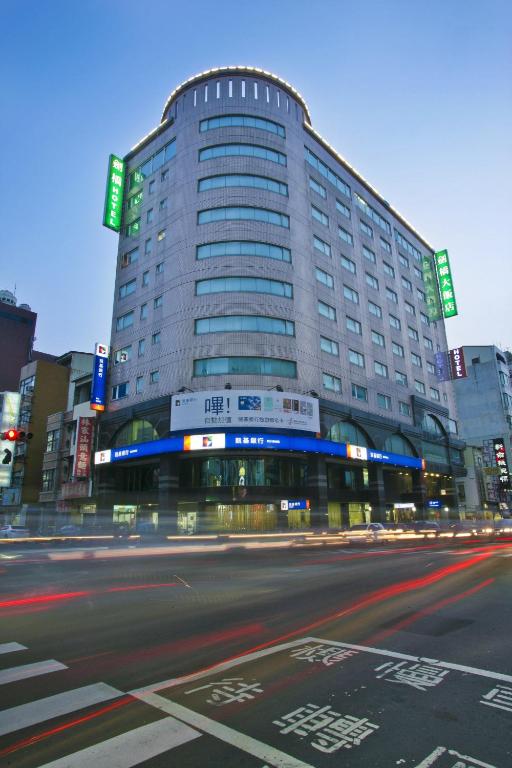
[[[512,766],[511,545],[110,554],[0,555],[0,765]]]

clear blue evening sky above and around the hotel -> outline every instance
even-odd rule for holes
[[[509,0],[2,0],[0,288],[38,313],[36,347],[110,335],[117,236],[108,155],[210,67],[288,80],[313,126],[437,249],[450,346],[512,346]]]

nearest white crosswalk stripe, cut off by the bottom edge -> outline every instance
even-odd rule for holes
[[[134,728],[132,731],[61,757],[40,768],[130,768],[167,752],[201,734],[174,717]]]

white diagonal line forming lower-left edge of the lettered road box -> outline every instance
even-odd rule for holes
[[[174,715],[184,723],[188,723],[204,733],[208,733],[210,736],[215,736],[217,739],[220,739],[226,744],[230,744],[232,747],[241,749],[249,755],[253,755],[260,760],[263,760],[269,765],[274,766],[274,768],[313,768],[309,763],[297,760],[291,755],[281,752],[279,749],[275,749],[268,744],[264,744],[262,741],[253,739],[251,736],[246,736],[244,733],[235,731],[233,728],[229,728],[223,723],[218,723],[216,720],[205,717],[198,712],[193,712],[191,709],[187,709],[187,707],[182,707],[181,704],[176,704],[169,699],[165,699],[163,696],[158,696],[156,693],[139,693],[135,694],[135,697],[145,704],[150,704],[151,706],[156,707],[162,712]],[[67,765],[68,764],[66,763],[66,768]],[[47,768],[47,766],[43,766],[42,768]],[[51,766],[51,768],[54,767]],[[60,768],[60,766],[55,766],[55,768]],[[62,768],[64,768],[64,764]],[[74,768],[74,766],[70,765],[70,768]],[[95,768],[99,768],[99,766],[95,765]]]

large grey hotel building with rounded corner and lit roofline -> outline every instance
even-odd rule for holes
[[[262,70],[209,70],[171,93],[124,166],[98,457],[114,521],[456,515],[463,443],[436,379],[433,248],[315,131],[302,96]]]

